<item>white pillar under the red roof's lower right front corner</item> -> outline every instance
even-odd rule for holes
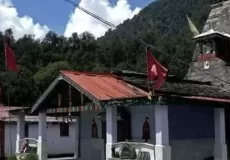
[[[106,160],[112,158],[112,144],[117,142],[117,108],[106,108]]]

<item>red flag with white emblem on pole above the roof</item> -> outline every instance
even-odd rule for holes
[[[148,80],[157,79],[154,89],[159,89],[165,81],[168,69],[162,66],[152,55],[150,51],[146,49],[147,54],[147,71]]]

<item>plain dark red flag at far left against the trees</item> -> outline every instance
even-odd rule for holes
[[[17,72],[17,63],[16,63],[16,57],[14,55],[14,52],[12,49],[6,44],[5,45],[5,58],[6,58],[6,68],[12,72]]]

